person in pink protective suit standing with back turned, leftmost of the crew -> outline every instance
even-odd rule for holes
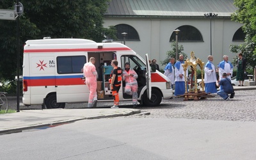
[[[88,100],[88,108],[96,108],[97,106],[97,71],[95,68],[95,58],[91,57],[90,62],[84,64],[83,72],[85,82],[89,88],[90,95]]]

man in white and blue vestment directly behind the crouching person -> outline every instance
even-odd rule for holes
[[[233,65],[228,61],[228,56],[224,55],[223,56],[223,61],[221,61],[218,64],[218,69],[219,69],[219,75],[220,79],[222,79],[222,74],[226,73],[227,77],[231,80],[232,74],[233,74]],[[219,79],[219,81],[220,81]]]

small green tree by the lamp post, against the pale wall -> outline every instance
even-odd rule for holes
[[[178,45],[177,47],[178,47],[178,57],[180,54],[183,54],[184,60],[186,60],[187,54],[182,52],[182,51],[184,51],[183,45]],[[160,63],[162,65],[168,64],[170,62],[170,58],[176,58],[176,42],[175,41],[172,41],[171,48],[172,48],[172,50],[166,52],[166,59],[163,61],[160,61]]]

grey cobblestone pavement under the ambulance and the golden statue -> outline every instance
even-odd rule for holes
[[[238,90],[234,99],[224,101],[218,95],[204,100],[186,100],[183,98],[164,99],[157,107],[138,106],[141,113],[150,115],[131,115],[140,118],[188,118],[202,120],[232,120],[256,122],[256,90]],[[132,108],[131,102],[120,102],[122,108]],[[10,100],[10,108],[16,109],[15,100]],[[113,102],[98,103],[101,108],[109,108]],[[66,108],[84,108],[85,103],[66,104]],[[20,109],[41,109],[40,105]]]

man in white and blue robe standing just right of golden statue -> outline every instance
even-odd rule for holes
[[[204,83],[206,93],[216,93],[216,70],[214,64],[212,63],[213,57],[208,56],[208,61],[204,67]]]

